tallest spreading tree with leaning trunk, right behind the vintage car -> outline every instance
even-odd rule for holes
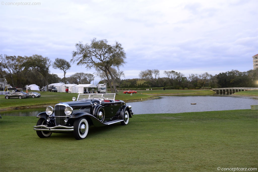
[[[93,38],[90,44],[75,44],[76,51],[72,52],[72,62],[77,65],[86,65],[86,68],[95,68],[103,71],[110,85],[111,92],[116,91],[116,80],[112,68],[125,63],[126,54],[120,43],[109,45],[106,39],[96,40]]]

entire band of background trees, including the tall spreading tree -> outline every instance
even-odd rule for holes
[[[25,87],[36,84],[40,87],[49,83],[63,82],[65,84],[90,84],[94,75],[101,78],[100,83],[107,83],[112,93],[117,88],[150,88],[165,87],[167,89],[196,89],[201,87],[257,87],[257,70],[240,72],[231,70],[219,73],[215,76],[208,72],[202,74],[184,74],[176,71],[164,71],[166,77],[160,78],[158,69],[140,71],[139,78],[122,79],[124,72],[119,68],[126,62],[126,53],[118,42],[110,45],[106,39],[96,40],[90,43],[81,42],[75,44],[70,62],[56,58],[52,62],[49,58],[34,54],[32,56],[9,56],[0,54],[0,78],[5,78],[12,87]],[[77,72],[66,77],[71,63],[95,69],[96,72]],[[60,69],[64,77],[60,78],[50,72],[50,67]],[[1,88],[3,89],[3,88]]]

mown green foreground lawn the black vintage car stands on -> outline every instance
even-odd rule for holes
[[[257,168],[257,110],[134,115],[129,124],[39,138],[36,117],[0,120],[0,171],[218,171]]]

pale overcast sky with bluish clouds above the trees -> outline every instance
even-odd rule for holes
[[[160,70],[160,77],[164,70],[186,77],[243,72],[253,69],[258,54],[258,0],[26,2],[1,1],[0,54],[70,61],[76,43],[117,41],[127,62],[121,79],[139,78],[147,69]],[[50,70],[63,78],[61,70]],[[66,76],[76,72],[94,70],[72,64]]]

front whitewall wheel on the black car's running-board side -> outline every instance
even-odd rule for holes
[[[77,140],[84,139],[89,130],[89,124],[86,118],[82,117],[74,121],[74,137]]]

